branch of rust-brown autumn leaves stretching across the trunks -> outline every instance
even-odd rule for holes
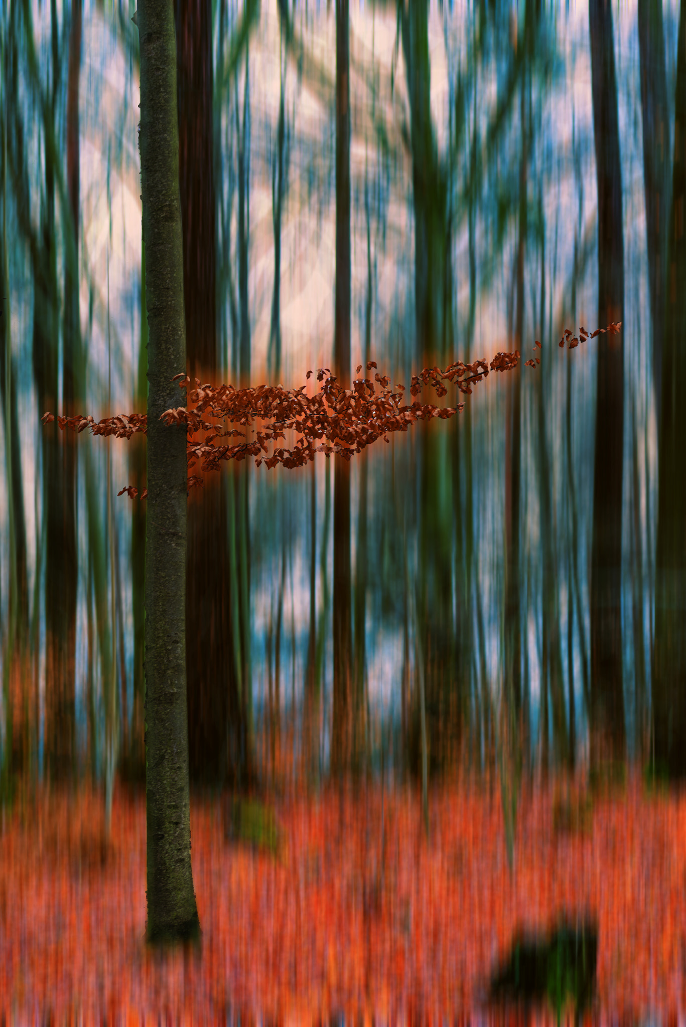
[[[566,329],[558,345],[576,348],[586,339],[609,333],[619,333],[621,322],[612,322],[606,329],[587,332],[579,330],[578,336]],[[540,349],[537,341],[534,350]],[[457,360],[449,367],[424,368],[412,375],[409,394],[411,403],[405,403],[405,386],[391,385],[387,375],[380,375],[376,363],[370,360],[367,372],[374,371],[372,378],[356,378],[350,389],[344,388],[329,368],[320,368],[317,381],[321,387],[314,395],[309,395],[306,385],[297,389],[285,389],[281,385],[259,385],[256,388],[237,389],[232,385],[202,385],[195,379],[195,386],[187,393],[188,406],[177,407],[165,412],[167,424],[186,424],[188,432],[188,487],[202,485],[201,473],[193,473],[194,467],[202,473],[218,470],[223,460],[245,460],[254,457],[259,466],[282,464],[284,467],[301,467],[314,459],[316,453],[327,457],[339,454],[347,460],[371,446],[380,439],[388,442],[393,431],[407,431],[418,421],[433,418],[453,417],[464,408],[464,403],[456,407],[441,407],[433,403],[420,402],[425,388],[432,389],[436,398],[442,400],[449,386],[457,386],[462,395],[470,395],[474,385],[488,378],[491,372],[512,371],[518,367],[521,356],[518,350],[499,352],[489,362],[485,359],[464,364]],[[526,360],[525,366],[536,368],[540,357]],[[357,374],[362,365],[357,368]],[[313,375],[308,372],[308,379]],[[182,389],[188,389],[187,375],[177,375]],[[51,413],[43,415],[43,423],[56,420]],[[84,431],[89,428],[94,435],[114,435],[131,439],[147,430],[145,414],[119,414],[96,421],[93,417],[76,415],[57,417],[63,430]],[[239,424],[241,429],[224,427],[224,424]],[[286,432],[294,432],[298,438],[291,447],[279,445],[286,440]],[[254,438],[249,439],[249,435]],[[201,436],[201,438],[197,438]],[[226,442],[239,436],[240,443]],[[128,486],[119,492],[127,492],[133,499],[138,489]],[[141,494],[145,498],[146,492]]]

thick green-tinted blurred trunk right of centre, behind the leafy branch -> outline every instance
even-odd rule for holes
[[[431,119],[429,3],[398,7],[407,75],[414,208],[414,316],[420,367],[449,360],[453,346],[449,178],[441,161]],[[458,757],[465,682],[458,679],[453,617],[454,498],[444,433],[420,429],[421,510],[416,630],[424,660],[429,772],[442,771]],[[409,758],[421,764],[421,711],[412,717]]]

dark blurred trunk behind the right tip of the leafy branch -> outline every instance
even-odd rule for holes
[[[610,0],[589,0],[598,181],[598,324],[623,320],[624,244],[619,117]],[[590,570],[590,759],[624,755],[621,555],[624,425],[621,336],[600,336]]]

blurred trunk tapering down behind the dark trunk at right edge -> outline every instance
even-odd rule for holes
[[[643,114],[643,184],[648,234],[650,313],[653,322],[653,378],[659,408],[670,218],[670,115],[666,99],[662,0],[639,0],[639,51]]]

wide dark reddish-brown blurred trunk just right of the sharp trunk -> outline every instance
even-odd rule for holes
[[[191,378],[216,382],[216,200],[212,3],[175,0],[179,185],[183,228],[183,290],[187,358]],[[181,402],[180,400],[178,402]],[[190,775],[198,782],[233,784],[243,734],[232,644],[226,484],[210,476],[188,502],[186,664]],[[244,748],[244,747],[243,747]]]

